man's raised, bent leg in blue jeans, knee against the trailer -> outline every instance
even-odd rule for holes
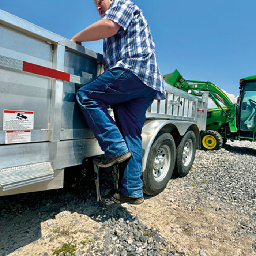
[[[106,105],[141,97],[148,88],[130,71],[118,68],[104,72],[78,90],[77,101],[105,157],[114,158],[128,152],[127,144],[108,114]]]

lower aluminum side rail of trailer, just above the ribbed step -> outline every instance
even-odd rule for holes
[[[103,154],[95,138],[0,146],[0,169],[51,162],[53,169],[80,165],[85,157]],[[4,161],[3,161],[4,159]]]

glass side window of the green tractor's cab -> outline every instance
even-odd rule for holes
[[[256,81],[246,83],[241,102],[240,128],[253,131],[256,125]]]

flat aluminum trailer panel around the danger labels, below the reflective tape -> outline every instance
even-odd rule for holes
[[[0,129],[3,130],[3,109],[34,111],[34,130],[48,128],[51,80],[25,72],[0,69]]]

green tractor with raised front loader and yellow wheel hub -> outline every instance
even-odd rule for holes
[[[213,83],[185,80],[177,69],[163,76],[170,85],[193,95],[201,96],[208,91],[217,108],[207,110],[206,130],[201,132],[201,148],[218,150],[228,139],[256,140],[256,76],[240,80],[237,103]],[[224,106],[221,106],[224,105]]]

